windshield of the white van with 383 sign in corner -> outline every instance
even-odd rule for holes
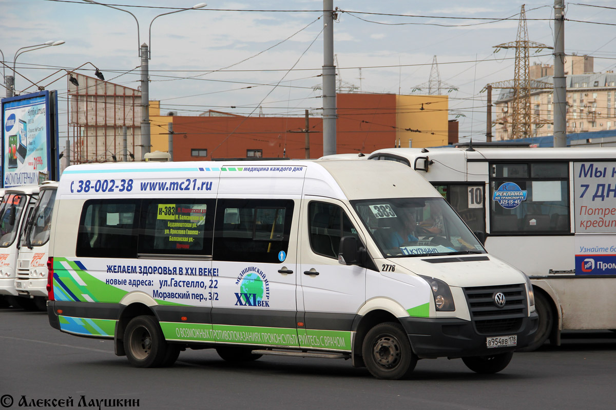
[[[384,256],[485,253],[442,198],[354,200],[351,204]]]

